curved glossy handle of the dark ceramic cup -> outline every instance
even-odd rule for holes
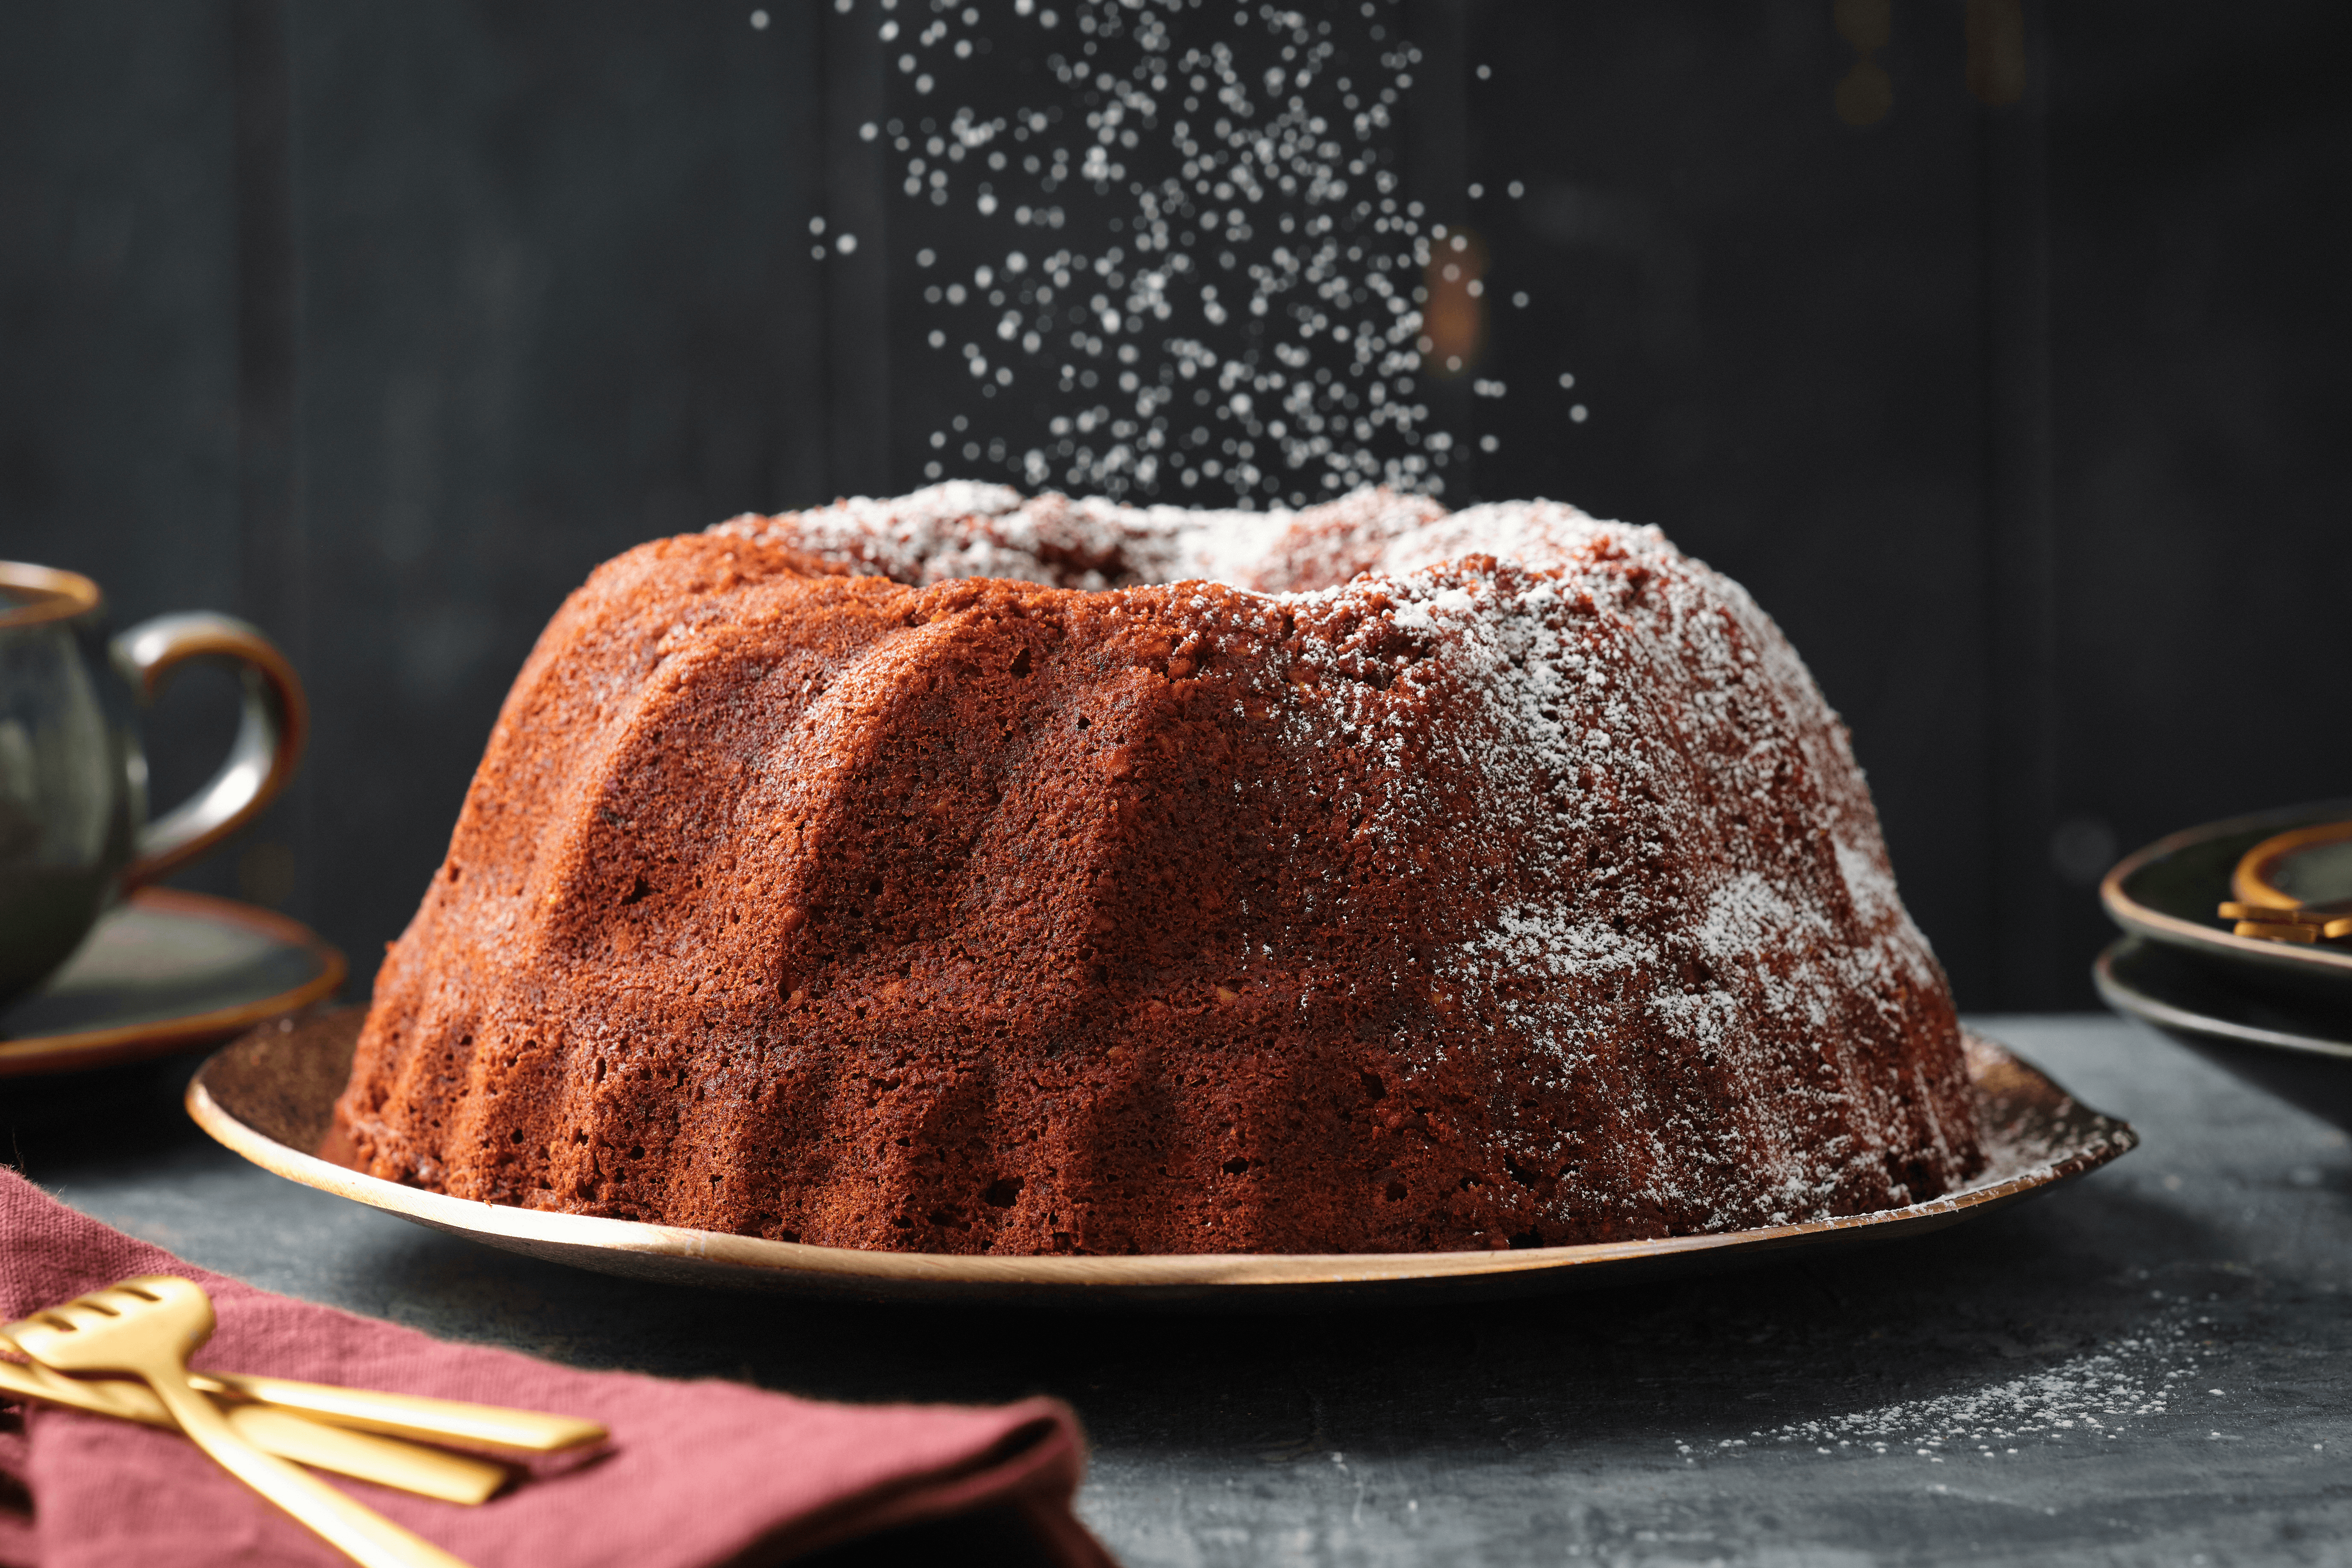
[[[310,733],[310,705],[287,656],[233,616],[193,611],[141,621],[115,637],[113,658],[141,703],[153,703],[162,677],[188,658],[233,661],[245,682],[245,717],[228,762],[202,790],[139,830],[136,856],[122,870],[127,893],[169,877],[278,799]]]

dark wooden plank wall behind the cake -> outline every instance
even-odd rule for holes
[[[245,614],[318,708],[191,884],[365,985],[595,562],[920,484],[875,7],[0,7],[0,555],[122,623]],[[1501,437],[1449,498],[1661,522],[1745,581],[1964,1006],[2091,1001],[2114,853],[2352,792],[2352,12],[2027,0],[1987,106],[1999,7],[1896,0],[1851,125],[1856,0],[1376,9],[1425,54],[1411,188],[1536,301],[1482,364],[1510,397],[1435,388]],[[153,715],[160,804],[228,703]]]

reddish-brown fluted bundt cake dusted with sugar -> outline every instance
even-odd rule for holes
[[[1555,503],[941,484],[607,562],[336,1126],[468,1199],[851,1248],[1557,1246],[1980,1166],[1846,733]]]

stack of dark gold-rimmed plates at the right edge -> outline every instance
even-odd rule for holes
[[[2107,1006],[2164,1030],[2241,1079],[2352,1128],[2352,940],[2239,936],[2239,863],[2258,844],[2352,820],[2352,802],[2293,806],[2190,827],[2131,856],[2100,884],[2126,936],[2093,971]],[[2310,905],[2352,898],[2352,832],[2300,832],[2265,856],[2274,884]]]

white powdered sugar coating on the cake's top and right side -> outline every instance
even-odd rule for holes
[[[1748,592],[1658,529],[1548,501],[1444,512],[1381,489],[1301,512],[1185,512],[938,484],[717,531],[910,585],[1249,590],[1162,590],[1150,607],[1204,646],[1221,628],[1289,630],[1282,745],[1331,757],[1317,809],[1381,823],[1374,853],[1425,879],[1430,907],[1484,912],[1432,929],[1409,969],[1352,983],[1484,1018],[1519,1041],[1529,1088],[1597,1086],[1649,1171],[1635,1201],[1689,1208],[1710,1150],[1738,1147],[1776,1194],[1766,1218],[1851,1211],[1839,1194],[1884,1182],[1900,1128],[1922,1098],[1933,1107],[1853,1044],[1912,1027],[1943,978],[1844,729]],[[1689,842],[1691,823],[1717,842]],[[1237,976],[1261,964],[1254,947],[1244,933]],[[1726,1084],[1738,1135],[1653,1103],[1653,1077],[1613,1060],[1628,1039],[1672,1041],[1691,1079]],[[1811,1044],[1792,1058],[1790,1041]],[[1828,1140],[1844,1161],[1820,1159],[1828,1119],[1856,1128]],[[1555,1131],[1526,1133],[1529,1159],[1573,1164]],[[1973,1147],[1959,1126],[1929,1140]]]

